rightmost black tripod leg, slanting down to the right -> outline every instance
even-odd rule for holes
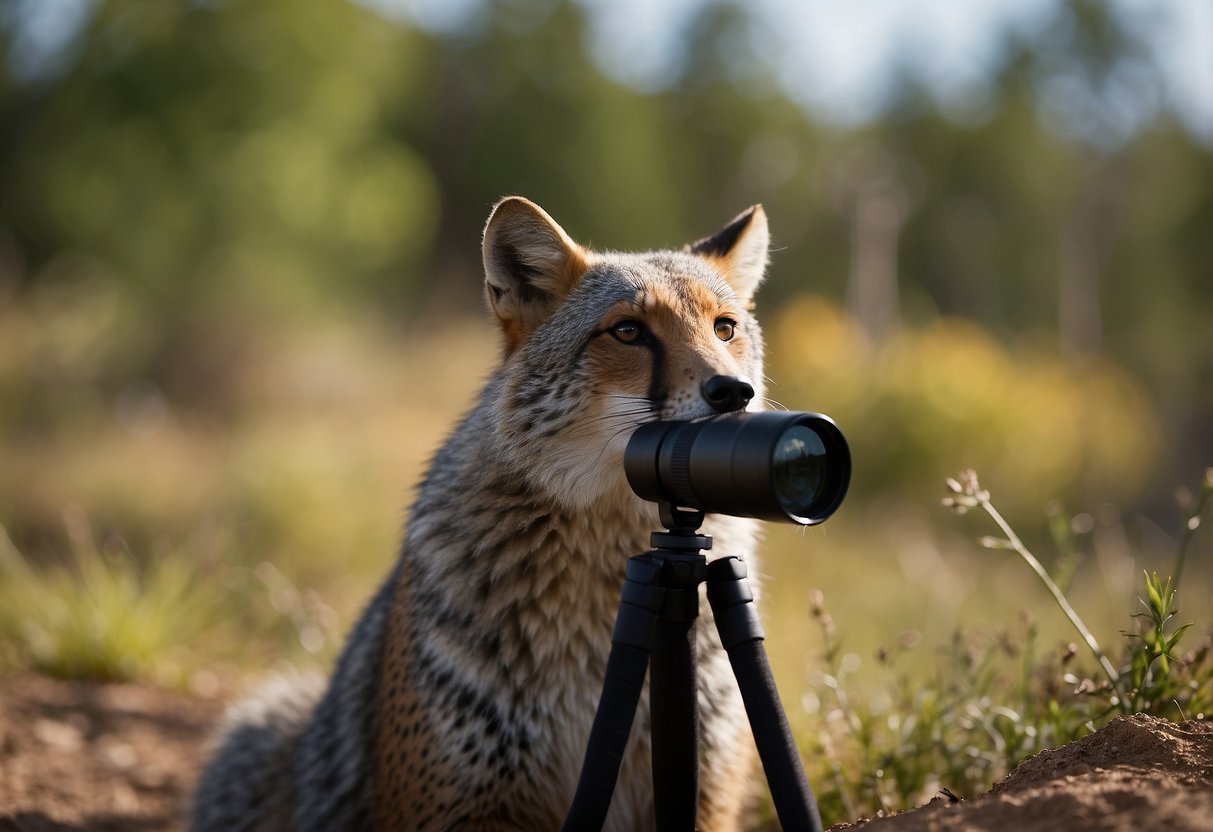
[[[821,817],[779,701],[763,648],[762,622],[740,558],[719,558],[707,565],[707,599],[746,703],[779,822],[787,832],[821,832]]]

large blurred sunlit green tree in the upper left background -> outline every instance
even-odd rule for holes
[[[437,183],[393,136],[426,109],[426,35],[344,2],[99,0],[79,39],[4,101],[0,222],[32,275],[78,251],[169,310],[391,291],[428,252]]]

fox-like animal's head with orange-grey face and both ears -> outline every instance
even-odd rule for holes
[[[490,386],[501,452],[534,486],[583,508],[628,492],[622,452],[638,424],[758,410],[751,309],[768,243],[756,205],[682,250],[591,251],[539,205],[501,200],[483,243],[503,337]]]

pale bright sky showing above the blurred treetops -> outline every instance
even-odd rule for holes
[[[328,1],[328,0],[324,0]],[[475,19],[484,0],[358,0],[434,30]],[[678,64],[679,34],[707,0],[577,0],[592,28],[590,47],[609,75],[660,89]],[[12,0],[19,33],[12,59],[30,73],[53,70],[92,0]],[[790,97],[814,118],[858,125],[879,114],[895,73],[909,61],[945,108],[980,109],[985,70],[1001,33],[1031,32],[1058,0],[750,0],[764,24],[765,57]],[[1213,147],[1213,0],[1107,0],[1140,27],[1162,69],[1164,106]],[[542,8],[543,2],[519,2]]]

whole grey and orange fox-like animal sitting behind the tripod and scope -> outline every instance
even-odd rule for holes
[[[657,525],[623,449],[645,421],[757,409],[750,310],[767,249],[759,206],[680,251],[616,253],[577,245],[528,200],[497,204],[483,255],[501,365],[434,456],[332,678],[233,708],[194,828],[559,827],[626,562]],[[722,377],[747,378],[753,398],[708,397]],[[705,531],[752,558],[753,522],[710,517]],[[714,628],[697,632],[699,827],[733,830],[753,742]],[[649,728],[645,695],[606,828],[653,827]]]

